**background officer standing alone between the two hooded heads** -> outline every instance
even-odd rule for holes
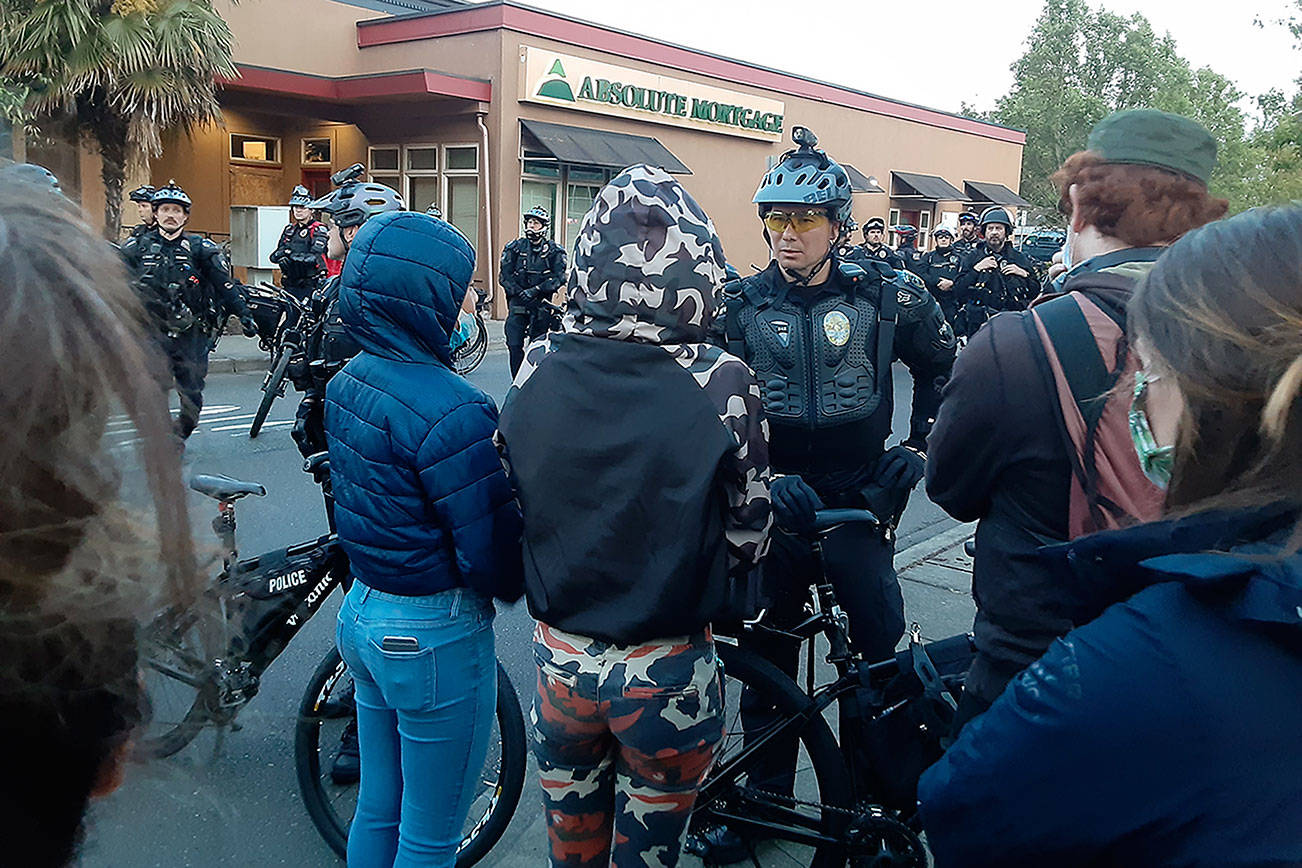
[[[540,308],[565,285],[565,249],[547,237],[551,216],[535,206],[525,212],[525,236],[501,251],[497,280],[506,290],[506,350],[510,376],[525,360],[525,344],[547,333],[551,318]]]

